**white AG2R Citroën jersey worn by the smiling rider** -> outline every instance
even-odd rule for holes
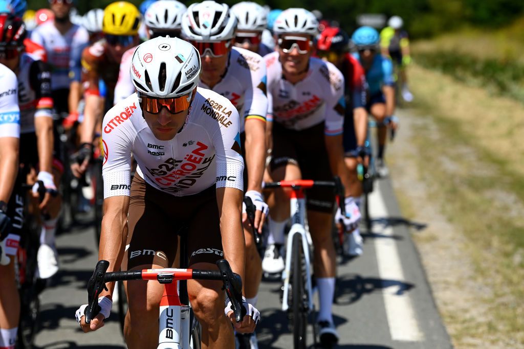
[[[269,121],[297,131],[325,122],[325,134],[342,133],[344,76],[333,64],[310,58],[305,78],[291,84],[283,78],[278,52],[266,55],[264,60]]]

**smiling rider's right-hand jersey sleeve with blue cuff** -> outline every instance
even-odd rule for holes
[[[329,88],[326,88],[325,100],[325,129],[326,136],[342,134],[346,100],[344,98],[344,75],[331,63],[329,69]]]

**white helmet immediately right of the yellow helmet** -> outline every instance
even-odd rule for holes
[[[158,0],[147,8],[144,22],[150,31],[178,30],[186,10],[177,0]]]

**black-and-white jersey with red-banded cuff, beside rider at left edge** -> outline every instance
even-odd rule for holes
[[[32,54],[23,53],[18,67],[20,133],[35,132],[35,118],[52,118],[49,66]]]

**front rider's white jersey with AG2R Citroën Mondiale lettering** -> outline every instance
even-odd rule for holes
[[[130,195],[131,153],[138,175],[174,196],[212,185],[244,188],[238,112],[213,91],[197,89],[185,126],[169,141],[158,140],[149,129],[137,94],[111,108],[102,129],[104,198]]]

